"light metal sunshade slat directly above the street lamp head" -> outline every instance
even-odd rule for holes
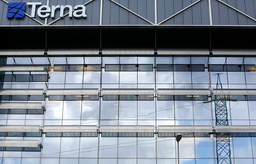
[[[213,132],[212,126],[158,126],[158,133],[168,132],[193,132],[193,133],[211,133]]]

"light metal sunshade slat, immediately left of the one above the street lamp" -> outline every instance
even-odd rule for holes
[[[100,132],[154,133],[154,126],[100,126]]]

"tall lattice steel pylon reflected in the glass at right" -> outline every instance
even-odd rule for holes
[[[218,75],[216,89],[222,89]],[[217,126],[228,126],[228,110],[226,96],[215,95],[215,118]],[[229,133],[216,134],[217,164],[231,164],[230,135]]]

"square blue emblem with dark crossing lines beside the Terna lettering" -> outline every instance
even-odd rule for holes
[[[7,18],[23,18],[25,15],[25,2],[9,2],[7,9]]]

